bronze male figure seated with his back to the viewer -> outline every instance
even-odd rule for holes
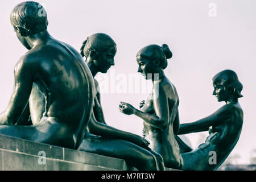
[[[94,82],[79,52],[49,35],[37,2],[22,2],[11,24],[29,51],[14,68],[15,86],[0,114],[0,134],[77,149],[92,113]],[[46,12],[45,10],[43,10]],[[20,120],[32,126],[20,126]]]

